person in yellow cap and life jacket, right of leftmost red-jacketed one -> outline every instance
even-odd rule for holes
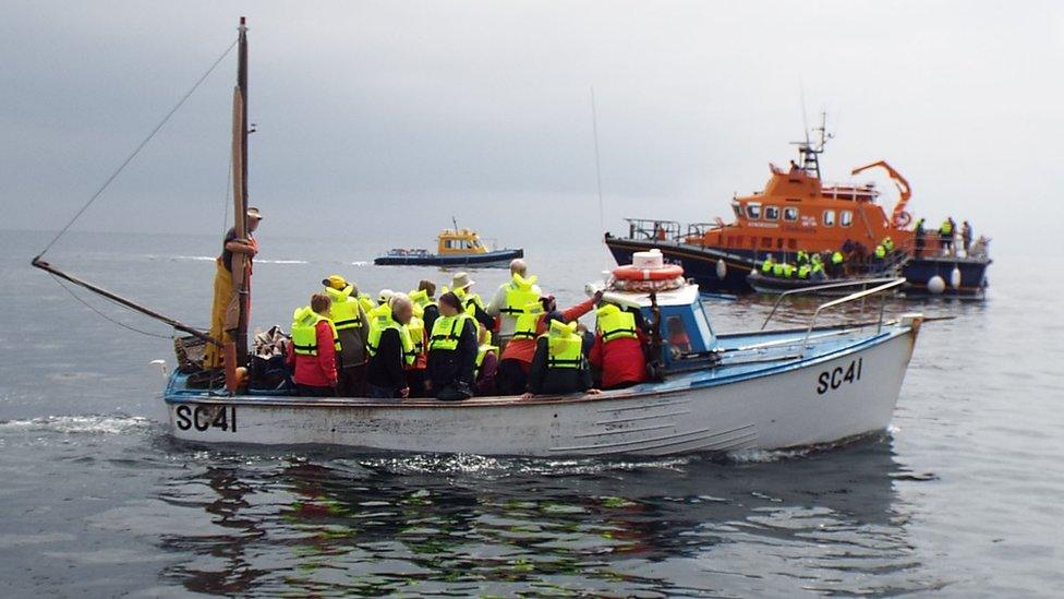
[[[340,275],[329,275],[322,280],[322,285],[325,286],[325,295],[332,301],[330,318],[340,335],[340,382],[337,393],[341,397],[363,397],[368,320],[359,302],[354,285]]]

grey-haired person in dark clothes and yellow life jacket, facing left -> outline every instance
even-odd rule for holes
[[[366,344],[370,352],[370,363],[366,366],[370,397],[410,396],[406,367],[414,362],[416,355],[407,324],[413,313],[413,303],[406,293],[395,293],[391,301],[370,312],[370,338]]]

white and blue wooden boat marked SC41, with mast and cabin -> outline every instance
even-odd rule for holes
[[[245,44],[241,20],[233,111],[238,227],[246,218]],[[529,456],[835,444],[890,423],[923,320],[907,314],[884,321],[881,311],[874,322],[817,326],[825,310],[895,289],[904,283],[898,279],[821,306],[802,328],[717,334],[698,285],[651,253],[622,269],[632,278],[610,279],[589,291],[602,288],[606,301],[636,309],[650,323],[652,382],[533,399],[314,399],[247,384],[246,314],[238,319],[235,342],[227,343],[68,274],[46,262],[45,252],[34,266],[225,349],[223,385],[210,386],[213,372],[190,372],[188,367],[198,362],[182,360],[185,368],[169,375],[162,394],[171,434],[197,443]],[[250,297],[250,286],[238,289]],[[244,311],[249,302],[238,304]],[[196,380],[206,380],[207,388]]]

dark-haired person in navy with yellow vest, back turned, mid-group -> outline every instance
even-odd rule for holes
[[[428,387],[437,399],[473,396],[475,385],[476,323],[454,292],[439,296],[439,318],[428,336]]]

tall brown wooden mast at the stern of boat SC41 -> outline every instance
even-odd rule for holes
[[[232,169],[233,169],[233,229],[237,239],[247,238],[247,26],[240,17],[238,39],[237,87],[233,89]],[[247,313],[251,308],[247,256],[233,252],[233,292],[237,295],[237,328],[233,342],[237,346],[237,363],[247,362]]]

